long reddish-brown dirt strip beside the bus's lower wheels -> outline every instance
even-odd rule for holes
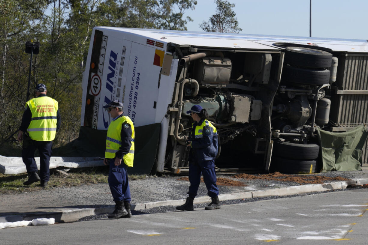
[[[245,180],[276,180],[276,181],[290,181],[299,184],[323,184],[331,181],[345,181],[349,180],[340,176],[337,177],[326,177],[321,175],[293,175],[293,174],[281,174],[279,172],[270,174],[237,174],[233,176],[238,179]]]

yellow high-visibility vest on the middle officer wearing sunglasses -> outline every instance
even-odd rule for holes
[[[112,121],[107,128],[106,135],[106,150],[105,150],[105,158],[114,158],[116,156],[116,152],[121,147],[121,128],[124,127],[124,124],[129,124],[132,129],[132,139],[131,146],[129,152],[123,156],[124,163],[129,167],[133,167],[134,160],[134,125],[132,120],[129,117],[119,117],[116,120]]]

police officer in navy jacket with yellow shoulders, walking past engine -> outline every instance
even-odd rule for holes
[[[206,120],[208,113],[199,105],[192,106],[190,113],[194,123],[192,125],[191,138],[187,141],[191,147],[189,160],[189,197],[186,202],[177,206],[178,210],[193,210],[193,200],[197,196],[201,173],[207,187],[207,194],[212,202],[205,207],[206,210],[219,209],[219,188],[216,185],[215,158],[218,151],[218,139],[216,128]]]

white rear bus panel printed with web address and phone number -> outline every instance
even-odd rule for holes
[[[174,82],[172,88],[161,85],[169,85],[167,79],[162,79],[167,77],[161,74],[163,58],[162,50],[132,42],[123,100],[124,114],[135,126],[160,123],[166,114]],[[161,106],[165,101],[167,104]]]

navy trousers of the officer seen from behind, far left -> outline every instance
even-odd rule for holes
[[[50,179],[50,157],[52,152],[52,141],[34,141],[31,138],[24,139],[22,149],[22,160],[27,169],[27,173],[37,171],[35,161],[35,151],[40,154],[40,179],[47,182]]]

